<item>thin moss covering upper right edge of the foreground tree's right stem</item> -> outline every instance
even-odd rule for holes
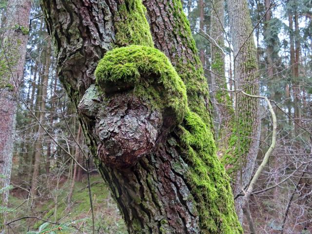
[[[175,17],[173,31],[178,32],[181,38],[179,39],[180,43],[189,52],[188,56],[174,59],[176,71],[186,86],[189,108],[198,114],[209,126],[213,127],[212,106],[210,106],[208,97],[208,82],[204,76],[200,59],[197,56],[198,51],[195,40],[192,37],[190,23],[183,12],[181,1],[173,0],[170,2],[168,11],[169,14]],[[173,48],[173,50],[176,50],[176,48]],[[176,51],[172,51],[172,54],[176,54]]]

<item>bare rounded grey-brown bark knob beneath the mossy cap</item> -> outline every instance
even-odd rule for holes
[[[115,94],[102,107],[96,124],[102,162],[129,167],[154,148],[163,124],[160,110],[131,93]]]

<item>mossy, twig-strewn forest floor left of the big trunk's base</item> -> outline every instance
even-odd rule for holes
[[[87,176],[84,176],[81,182],[75,182],[69,206],[67,200],[70,181],[67,181],[65,176],[58,177],[59,183],[56,182],[56,179],[45,178],[44,183],[41,181],[45,188],[40,189],[39,197],[35,199],[27,197],[27,190],[22,188],[20,181],[14,177],[16,176],[13,176],[12,183],[16,186],[10,191],[9,207],[16,208],[16,211],[7,215],[7,222],[25,216],[36,216],[57,223],[80,220],[74,225],[79,230],[77,233],[92,233],[92,212]],[[90,180],[96,233],[126,234],[127,231],[122,216],[101,176],[92,175]],[[24,218],[10,224],[9,231],[13,234],[37,231],[43,223],[45,222],[36,218]],[[53,224],[50,227],[53,227]]]

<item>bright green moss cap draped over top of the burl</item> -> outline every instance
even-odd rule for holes
[[[121,88],[133,87],[137,94],[157,99],[176,112],[179,122],[187,111],[184,83],[169,59],[155,48],[131,45],[109,51],[99,61],[95,76],[99,86],[121,83]]]

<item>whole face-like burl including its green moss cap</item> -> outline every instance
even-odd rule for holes
[[[134,165],[188,111],[184,83],[155,48],[114,49],[99,61],[95,76],[97,85],[87,90],[78,110],[96,119],[98,158],[106,165]]]

